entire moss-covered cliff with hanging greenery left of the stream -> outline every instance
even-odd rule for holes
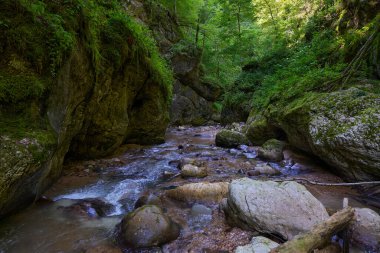
[[[172,74],[121,2],[0,6],[0,217],[56,180],[67,154],[164,140]]]

